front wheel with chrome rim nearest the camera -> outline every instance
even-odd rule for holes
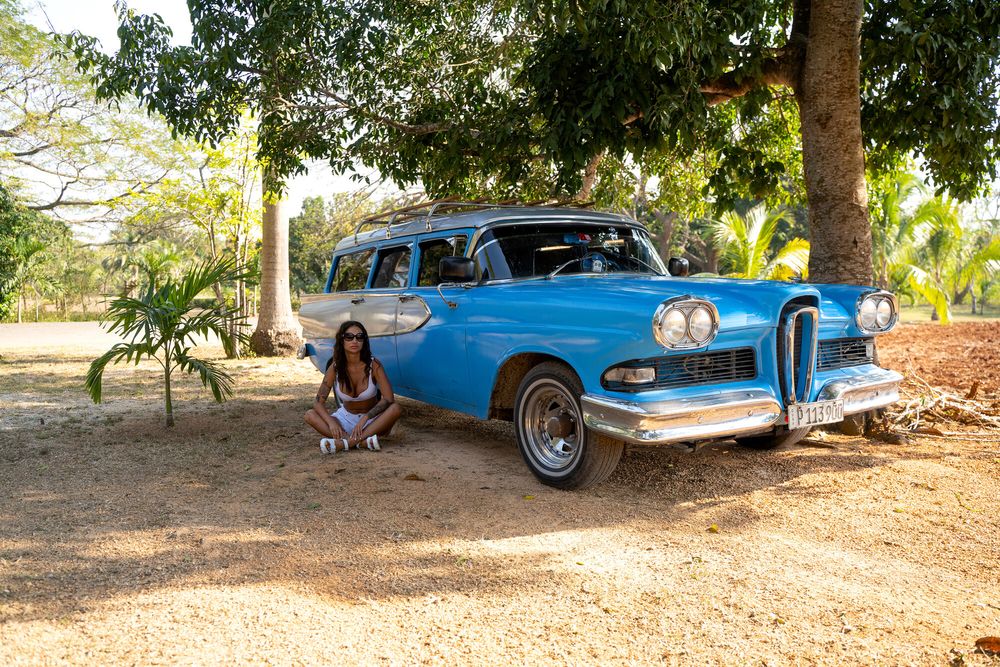
[[[531,369],[517,390],[517,446],[543,484],[583,489],[603,482],[625,449],[583,423],[583,385],[566,366],[547,362]]]

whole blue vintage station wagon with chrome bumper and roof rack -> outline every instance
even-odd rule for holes
[[[899,399],[875,363],[891,293],[669,269],[627,217],[418,205],[337,245],[300,356],[324,371],[337,327],[364,322],[396,393],[513,421],[535,476],[568,489],[607,478],[626,442],[771,448]]]

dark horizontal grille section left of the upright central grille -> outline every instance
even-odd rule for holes
[[[757,356],[753,348],[741,347],[719,352],[695,352],[669,357],[636,359],[615,368],[639,368],[652,366],[656,369],[656,379],[647,384],[625,384],[603,381],[605,389],[611,391],[649,391],[650,389],[674,389],[701,384],[737,382],[752,380],[757,376]]]

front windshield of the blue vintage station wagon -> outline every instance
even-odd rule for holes
[[[644,230],[626,225],[532,223],[485,232],[473,254],[482,280],[571,273],[666,275]]]

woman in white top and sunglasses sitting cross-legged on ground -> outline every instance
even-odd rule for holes
[[[336,412],[326,407],[330,389],[340,400]],[[385,368],[372,356],[364,325],[344,322],[337,331],[333,359],[316,393],[316,403],[306,413],[306,423],[323,436],[320,451],[331,454],[351,447],[360,449],[362,444],[377,451],[378,436],[392,430],[401,414]]]

